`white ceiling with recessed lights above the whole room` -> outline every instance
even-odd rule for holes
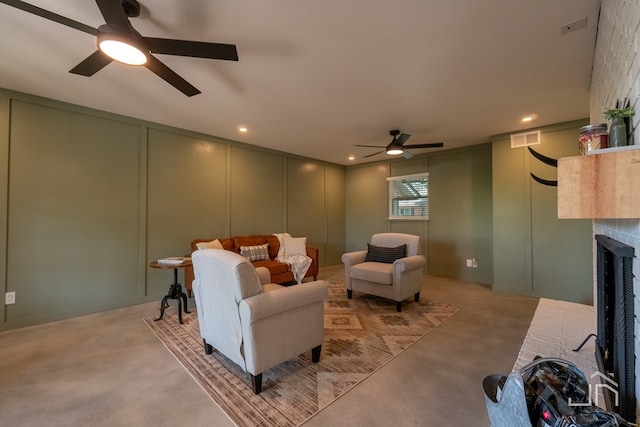
[[[89,0],[28,2],[104,23]],[[391,129],[450,149],[589,116],[598,0],[140,3],[142,35],[236,44],[239,61],[157,55],[202,91],[191,98],[146,68],[78,76],[93,36],[0,4],[0,87],[342,165],[384,159],[354,145]]]

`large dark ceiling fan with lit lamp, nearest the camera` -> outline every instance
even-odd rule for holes
[[[98,50],[69,71],[74,74],[92,76],[113,60],[129,65],[144,65],[185,95],[193,96],[201,92],[151,53],[226,61],[238,60],[236,46],[232,44],[163,39],[140,35],[129,22],[129,18],[140,15],[140,4],[137,0],[96,0],[100,13],[106,22],[105,25],[98,28],[90,27],[20,0],[0,0],[0,3],[96,36]]]

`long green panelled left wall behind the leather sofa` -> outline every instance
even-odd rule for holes
[[[149,263],[195,238],[288,231],[340,263],[344,167],[5,90],[0,124],[0,330],[159,307]]]

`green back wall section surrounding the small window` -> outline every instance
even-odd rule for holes
[[[387,177],[429,172],[429,220],[388,220]],[[426,273],[492,283],[491,145],[444,150],[347,169],[347,250],[371,235],[419,235]],[[466,259],[476,258],[477,268]]]

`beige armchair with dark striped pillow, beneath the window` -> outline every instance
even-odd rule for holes
[[[413,295],[420,300],[426,259],[418,255],[420,236],[403,233],[379,233],[371,237],[366,251],[342,255],[347,298],[360,291],[396,302],[402,311],[402,301]]]

